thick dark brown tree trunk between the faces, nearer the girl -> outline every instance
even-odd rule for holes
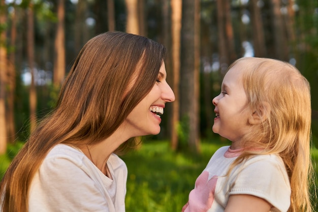
[[[181,124],[188,126],[187,142],[190,150],[199,151],[199,29],[200,1],[182,2],[181,29]]]

